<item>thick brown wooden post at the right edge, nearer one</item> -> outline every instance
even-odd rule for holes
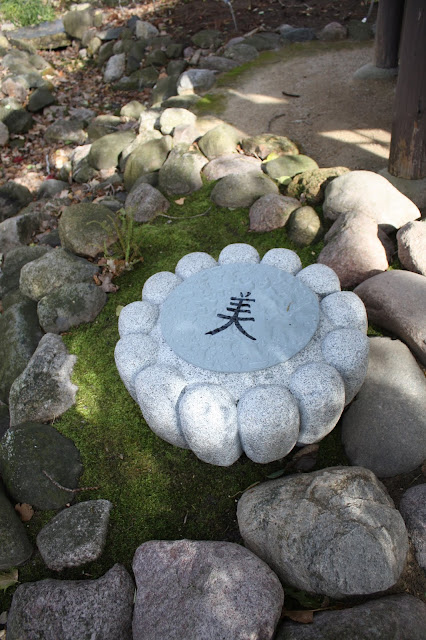
[[[426,3],[407,0],[392,122],[389,173],[426,177]]]

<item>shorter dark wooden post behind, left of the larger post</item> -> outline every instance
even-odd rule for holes
[[[410,0],[407,0],[410,2]],[[398,66],[398,48],[405,0],[380,0],[377,13],[374,64],[381,69]]]

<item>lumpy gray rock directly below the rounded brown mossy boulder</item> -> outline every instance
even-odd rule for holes
[[[99,268],[88,260],[58,248],[24,265],[19,286],[24,295],[38,301],[70,280],[93,282],[98,272]]]

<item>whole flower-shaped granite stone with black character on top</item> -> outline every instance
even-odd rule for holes
[[[148,425],[221,466],[318,442],[367,371],[362,301],[288,249],[190,253],[145,282],[118,327],[116,365]]]

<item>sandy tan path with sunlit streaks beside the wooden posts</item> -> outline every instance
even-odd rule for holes
[[[248,134],[288,136],[321,167],[376,171],[389,156],[396,80],[354,80],[372,60],[373,45],[360,45],[251,69],[225,90],[222,117]]]

